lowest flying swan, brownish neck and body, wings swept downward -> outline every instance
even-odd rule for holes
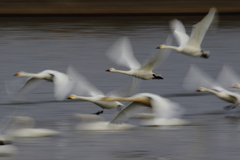
[[[177,103],[171,102],[166,98],[152,93],[140,93],[132,97],[105,97],[101,100],[132,102],[121,112],[119,112],[118,115],[110,122],[110,124],[122,124],[133,114],[140,112],[146,107],[150,107],[154,111],[154,125],[178,125],[177,123],[169,122],[178,119],[178,117],[183,113],[182,109]]]

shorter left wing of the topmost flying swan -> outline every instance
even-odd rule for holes
[[[170,26],[179,46],[185,46],[189,40],[189,36],[186,34],[186,30],[182,22],[175,19],[170,22]]]

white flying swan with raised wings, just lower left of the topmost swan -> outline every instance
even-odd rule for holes
[[[171,43],[170,38],[167,39],[166,43]],[[155,74],[152,71],[161,61],[163,61],[163,59],[166,58],[169,53],[170,50],[157,50],[156,53],[144,65],[140,65],[133,55],[129,39],[127,37],[123,37],[113,44],[113,46],[107,51],[106,55],[118,65],[129,67],[130,70],[122,71],[109,68],[106,71],[126,74],[144,80],[163,79],[161,75]]]

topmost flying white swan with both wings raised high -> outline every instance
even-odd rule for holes
[[[160,45],[157,49],[169,48],[189,56],[208,58],[209,52],[201,49],[201,43],[209,26],[212,24],[214,17],[216,17],[216,12],[216,8],[211,8],[209,13],[200,22],[193,26],[190,37],[186,34],[182,22],[179,20],[171,21],[170,25],[173,30],[173,35],[175,36],[179,47]]]

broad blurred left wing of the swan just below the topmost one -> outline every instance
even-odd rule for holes
[[[118,65],[138,69],[140,63],[133,55],[132,46],[127,37],[118,39],[106,52],[107,57]]]

